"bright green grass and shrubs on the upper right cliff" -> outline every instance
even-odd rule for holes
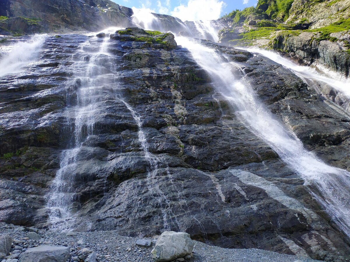
[[[310,8],[318,3],[323,3],[325,0],[310,0],[304,5],[293,7],[292,12],[295,12],[292,19],[288,19],[291,15],[290,10],[294,0],[259,0],[257,7],[249,7],[244,10],[234,10],[230,14],[223,17],[223,20],[231,22],[231,27],[241,27],[247,29],[247,32],[240,34],[241,39],[232,39],[238,43],[237,45],[254,45],[259,39],[267,39],[268,44],[265,48],[272,48],[272,43],[276,35],[299,35],[303,31],[319,33],[315,36],[318,41],[329,40],[337,41],[338,39],[330,37],[333,32],[350,30],[350,19],[341,19],[329,24],[328,26],[316,29],[299,29],[308,28],[309,22],[306,17],[299,19],[298,15],[309,12]],[[342,0],[328,1],[325,6],[330,8],[335,3]],[[299,8],[299,9],[298,9]],[[339,12],[342,12],[340,10]],[[307,16],[307,15],[306,15]],[[247,26],[250,20],[257,20],[254,26]],[[287,21],[287,22],[286,22]],[[316,35],[316,34],[315,34]],[[349,50],[348,50],[349,51]]]

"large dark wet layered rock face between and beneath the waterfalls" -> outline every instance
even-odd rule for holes
[[[64,180],[72,190],[60,192],[72,196],[77,231],[182,231],[221,247],[348,259],[347,237],[303,179],[237,117],[189,50],[154,46],[141,38],[152,32],[137,31],[49,36],[35,61],[1,77],[0,220],[51,226],[51,185],[80,116],[85,137]],[[236,79],[309,150],[350,170],[342,107],[265,57],[202,44],[237,64]],[[96,100],[79,115],[77,94],[90,80]]]

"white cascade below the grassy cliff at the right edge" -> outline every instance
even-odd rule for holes
[[[309,66],[300,66],[293,61],[290,61],[282,56],[280,56],[278,53],[268,51],[268,50],[262,50],[257,48],[248,48],[245,49],[252,53],[260,53],[263,56],[275,61],[276,63],[282,65],[285,68],[288,68],[293,73],[295,73],[297,76],[299,76],[302,80],[305,82],[309,82],[311,80],[320,81],[323,83],[326,83],[327,85],[334,87],[335,89],[339,90],[343,94],[350,97],[350,80],[344,80],[341,81],[341,77],[338,73],[330,72],[325,70],[325,68],[318,68],[319,71],[317,71],[315,68],[309,67]]]

